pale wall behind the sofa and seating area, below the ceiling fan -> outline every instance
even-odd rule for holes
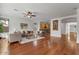
[[[21,27],[20,27],[20,23],[27,23],[28,24],[28,28],[26,30],[33,30],[32,27],[30,26],[31,23],[28,22],[28,18],[24,17],[23,15],[18,15],[18,14],[6,14],[6,15],[1,15],[3,17],[7,17],[9,19],[9,33],[13,33],[15,30],[16,31],[21,31]],[[36,16],[33,17],[32,20],[34,23],[37,23],[37,25],[35,26],[37,28],[37,31],[39,31],[40,28],[40,21],[42,22],[48,22],[48,20],[50,19],[50,17],[48,17],[47,19],[42,18],[43,16]],[[33,25],[32,25],[33,26]]]

